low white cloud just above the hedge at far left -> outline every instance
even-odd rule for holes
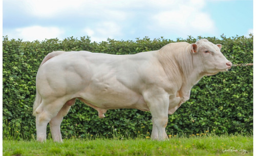
[[[25,41],[33,40],[44,40],[50,38],[61,38],[63,30],[57,27],[41,27],[41,26],[31,26],[25,28],[17,28],[13,32],[7,33],[11,38],[20,38]]]

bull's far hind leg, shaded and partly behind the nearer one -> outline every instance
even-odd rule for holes
[[[62,142],[61,132],[60,132],[60,124],[63,120],[63,117],[65,117],[71,105],[75,103],[75,99],[71,99],[68,102],[66,102],[65,105],[59,110],[56,117],[52,118],[50,121],[50,128],[52,133],[52,139],[56,142]]]

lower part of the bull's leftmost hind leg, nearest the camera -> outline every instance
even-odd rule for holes
[[[36,108],[36,137],[37,141],[46,141],[47,125],[52,118],[54,118],[59,110],[62,108],[64,102],[55,100],[54,102],[44,102]]]

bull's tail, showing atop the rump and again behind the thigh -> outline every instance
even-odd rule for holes
[[[46,55],[44,60],[42,60],[40,66],[42,64],[44,64],[46,61],[48,61],[49,59],[53,58],[54,56],[60,55],[62,53],[64,53],[64,52],[63,51],[55,51],[55,52],[49,53],[48,55]],[[36,88],[35,102],[34,102],[34,106],[33,106],[33,116],[36,115],[36,109],[39,107],[41,102],[42,102],[42,97],[40,96],[40,94],[38,93],[37,88]]]

